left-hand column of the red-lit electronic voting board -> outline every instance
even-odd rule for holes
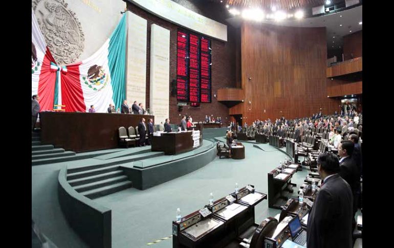
[[[177,100],[189,101],[189,42],[188,34],[178,31],[177,37]]]

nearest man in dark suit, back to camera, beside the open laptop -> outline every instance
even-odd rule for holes
[[[353,195],[338,175],[339,161],[333,153],[321,153],[317,170],[322,186],[308,217],[308,248],[351,248]]]

